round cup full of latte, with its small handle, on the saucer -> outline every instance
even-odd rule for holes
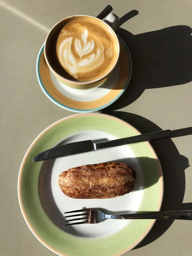
[[[118,21],[119,17],[111,15],[111,20]],[[119,41],[111,26],[88,15],[75,15],[58,22],[47,35],[44,46],[45,60],[53,75],[76,89],[103,84],[119,58]]]

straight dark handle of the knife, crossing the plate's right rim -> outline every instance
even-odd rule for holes
[[[121,145],[128,145],[143,141],[151,141],[151,140],[159,140],[159,139],[165,139],[165,138],[171,138],[172,132],[171,130],[166,131],[155,131],[148,134],[140,134],[133,137],[128,138],[122,138],[117,140],[108,140],[104,142],[94,143],[95,149],[103,149],[103,148],[111,148]]]

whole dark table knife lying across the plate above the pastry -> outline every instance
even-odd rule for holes
[[[133,137],[107,140],[103,142],[94,143],[92,140],[84,140],[79,142],[68,143],[54,148],[49,148],[46,151],[41,152],[33,158],[33,162],[48,160],[52,158],[65,157],[74,154],[81,154],[90,151],[101,150],[105,148],[111,148],[121,145],[128,145],[133,143],[139,143],[144,141],[159,140],[165,138],[171,138],[171,130],[156,131],[148,134],[140,134]]]

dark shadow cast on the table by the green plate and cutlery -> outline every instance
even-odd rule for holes
[[[161,131],[162,129],[153,122],[132,113],[112,111],[105,113],[116,116],[133,125],[141,133]],[[192,127],[173,131],[173,137],[192,134]],[[192,209],[192,203],[183,204],[185,193],[185,169],[189,167],[188,159],[179,154],[171,139],[152,141],[151,145],[157,153],[163,169],[164,197],[161,210],[186,210]],[[151,232],[134,249],[143,247],[158,239],[172,225],[172,220],[157,220]]]

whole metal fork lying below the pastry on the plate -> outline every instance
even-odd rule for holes
[[[81,213],[80,213],[81,212]],[[65,218],[71,217],[79,217],[81,218],[73,218],[70,220],[64,221],[69,222],[73,221],[70,224],[64,224],[65,226],[68,225],[76,225],[76,224],[96,224],[101,222],[104,219],[111,218],[111,219],[120,219],[120,220],[131,220],[131,219],[172,219],[172,220],[192,220],[192,210],[180,210],[180,211],[164,211],[164,212],[139,212],[139,213],[129,213],[129,214],[105,214],[101,210],[95,208],[89,209],[80,209],[66,213],[75,213],[73,215],[67,215]],[[77,214],[76,214],[77,213]],[[78,221],[78,222],[74,222]]]

